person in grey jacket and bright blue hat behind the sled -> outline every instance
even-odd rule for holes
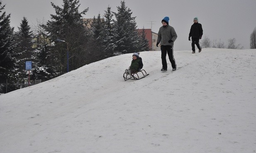
[[[177,34],[172,26],[169,25],[169,17],[164,17],[162,20],[163,26],[159,28],[158,37],[156,41],[156,47],[161,42],[161,59],[162,69],[161,71],[167,71],[166,54],[168,54],[169,60],[173,71],[176,70],[176,62],[173,56],[173,44],[177,39]]]

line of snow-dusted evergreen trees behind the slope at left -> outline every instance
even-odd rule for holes
[[[38,21],[32,29],[23,17],[15,32],[11,15],[0,1],[0,90],[16,90],[28,78],[26,61],[32,61],[31,80],[47,81],[67,68],[71,71],[114,55],[149,50],[144,29],[137,32],[135,17],[124,1],[117,12],[107,7],[93,22],[83,19],[89,8],[79,12],[79,0],[63,0],[62,7],[51,2],[51,6],[55,10],[51,20]]]

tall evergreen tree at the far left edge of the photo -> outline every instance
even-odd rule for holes
[[[3,12],[5,5],[0,1],[0,83],[1,89],[6,91],[6,82],[8,82],[7,92],[15,90],[15,69],[17,66],[14,28],[10,26],[10,14]]]

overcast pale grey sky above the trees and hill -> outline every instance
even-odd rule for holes
[[[136,17],[138,28],[151,29],[155,33],[163,17],[170,18],[169,24],[178,35],[174,50],[191,50],[188,41],[193,18],[198,17],[202,24],[203,38],[216,39],[228,45],[228,39],[236,38],[236,45],[250,48],[250,34],[256,27],[256,0],[124,0]],[[26,17],[30,26],[37,25],[37,20],[49,20],[55,14],[50,2],[61,6],[63,0],[2,0],[6,4],[5,12],[11,13],[11,26],[20,26],[22,17]],[[80,11],[89,7],[84,18],[101,16],[110,6],[117,12],[121,0],[80,0]],[[152,23],[152,25],[151,25]]]

